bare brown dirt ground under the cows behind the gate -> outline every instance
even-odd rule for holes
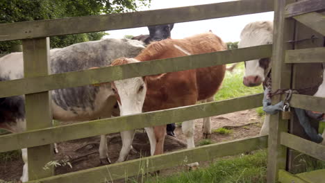
[[[211,119],[211,126],[213,129],[228,127],[233,130],[231,134],[218,134],[213,133],[210,137],[213,143],[221,141],[229,141],[233,139],[241,139],[245,137],[253,137],[258,135],[263,119],[257,115],[255,110],[244,110],[241,112],[234,112],[230,114],[224,114],[220,116],[213,116]],[[203,140],[202,134],[202,119],[195,121],[195,137],[194,141],[197,146],[199,142]],[[165,151],[170,152],[185,148],[185,137],[182,134],[181,127],[176,128],[176,138],[181,140],[177,141],[173,138],[167,138],[165,140]],[[112,162],[115,162],[119,156],[119,150],[121,149],[121,138],[119,134],[108,135],[108,152]],[[56,174],[69,173],[73,171],[80,171],[87,168],[93,168],[101,166],[99,161],[99,137],[90,137],[85,139],[77,139],[73,141],[66,141],[58,143],[59,153],[55,155],[55,159],[69,159],[68,162],[72,164],[72,168],[69,166],[58,166],[56,168]],[[143,130],[138,130],[135,134],[133,141],[133,148],[138,151],[132,152],[128,155],[128,160],[137,159],[141,156],[149,155],[150,146],[147,134]],[[4,181],[17,181],[22,175],[23,161],[21,158],[10,161],[0,162],[0,182]],[[162,173],[169,174],[174,172],[174,169],[165,170]]]

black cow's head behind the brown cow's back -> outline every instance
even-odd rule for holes
[[[148,26],[150,42],[160,41],[170,38],[170,32],[172,31],[174,24],[165,24],[157,26]]]

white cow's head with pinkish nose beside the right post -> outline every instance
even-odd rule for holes
[[[273,24],[270,21],[256,21],[247,24],[240,34],[238,48],[272,44]],[[255,87],[264,82],[271,69],[271,59],[261,58],[245,62],[243,83],[247,87]]]

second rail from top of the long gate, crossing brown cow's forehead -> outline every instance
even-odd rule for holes
[[[80,87],[94,83],[110,82],[147,76],[158,73],[184,71],[219,64],[242,62],[258,58],[268,58],[272,55],[272,44],[253,46],[244,49],[217,51],[201,55],[190,55],[164,60],[152,60],[115,67],[102,67],[85,71],[58,73],[35,78],[22,78],[0,82],[0,98],[45,92],[52,89]]]

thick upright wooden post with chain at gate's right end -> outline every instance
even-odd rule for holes
[[[272,53],[272,92],[276,89],[290,88],[291,64],[285,64],[285,50],[293,46],[285,44],[294,38],[294,21],[285,19],[285,5],[292,0],[274,0],[274,35]],[[274,96],[272,103],[278,103],[281,96]],[[280,143],[281,132],[287,132],[288,121],[281,118],[281,113],[271,116],[269,122],[269,142],[267,155],[267,182],[278,180],[279,169],[285,169],[287,148]]]

